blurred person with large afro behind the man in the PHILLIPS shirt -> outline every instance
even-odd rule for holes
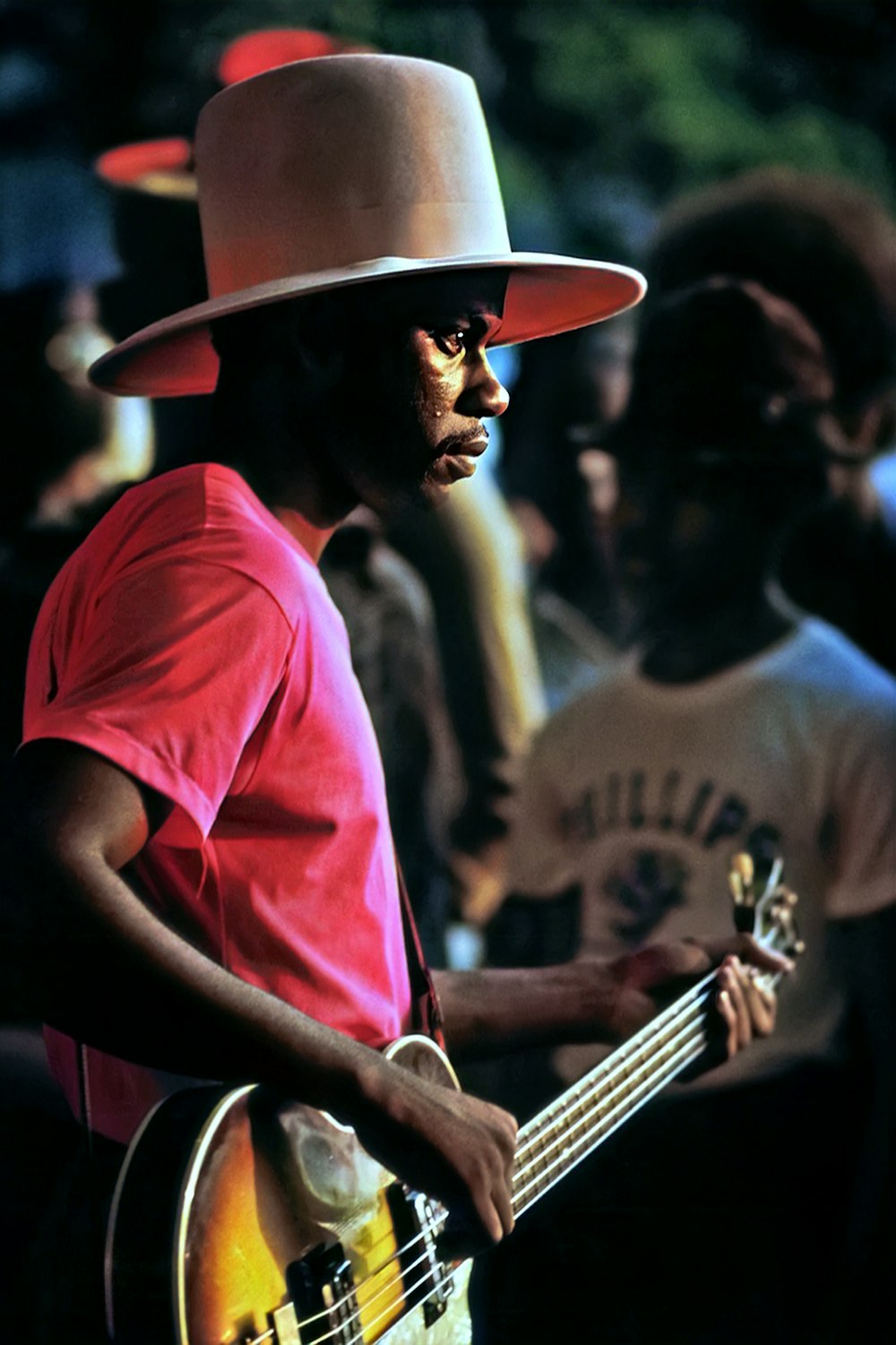
[[[896,221],[856,183],[761,168],[673,203],[644,266],[648,308],[706,276],[737,276],[788,299],[817,328],[845,445],[829,495],[794,527],[778,573],[795,603],[896,674],[896,512],[885,469],[877,476],[896,448]]]

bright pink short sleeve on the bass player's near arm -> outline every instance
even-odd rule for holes
[[[114,580],[28,697],[24,740],[90,748],[204,837],[283,679],[293,628],[257,581],[171,561]]]

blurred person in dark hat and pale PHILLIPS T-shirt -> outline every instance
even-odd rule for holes
[[[896,682],[770,582],[852,453],[835,393],[821,335],[752,281],[666,295],[642,331],[607,440],[632,648],[535,740],[490,960],[720,932],[736,850],[760,874],[784,857],[806,952],[774,1041],[654,1103],[557,1194],[550,1235],[539,1220],[498,1250],[483,1342],[561,1328],[615,1345],[892,1333]],[[496,1095],[527,1114],[533,1081],[556,1091],[596,1059],[562,1048],[529,1061],[527,1085],[517,1061]],[[562,1290],[585,1278],[583,1313]],[[525,1290],[545,1279],[549,1309]]]

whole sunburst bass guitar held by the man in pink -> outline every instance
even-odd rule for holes
[[[796,898],[780,868],[753,894],[745,857],[736,858],[736,923],[794,955]],[[519,1130],[517,1217],[704,1053],[714,979],[704,976]],[[387,1053],[459,1087],[426,1037],[404,1037]],[[257,1085],[176,1092],[144,1122],[116,1188],[110,1334],[116,1345],[461,1345],[471,1263],[441,1259],[445,1219],[324,1112]]]

